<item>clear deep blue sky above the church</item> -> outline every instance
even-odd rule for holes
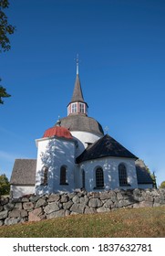
[[[67,116],[79,76],[88,115],[165,180],[165,1],[11,0],[0,55],[0,173],[36,158],[35,139]]]

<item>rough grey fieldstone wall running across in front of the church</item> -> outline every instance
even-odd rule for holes
[[[42,197],[0,197],[0,226],[72,214],[108,212],[116,208],[162,205],[165,205],[165,189],[115,189],[102,193],[79,190],[70,194],[51,194]]]

